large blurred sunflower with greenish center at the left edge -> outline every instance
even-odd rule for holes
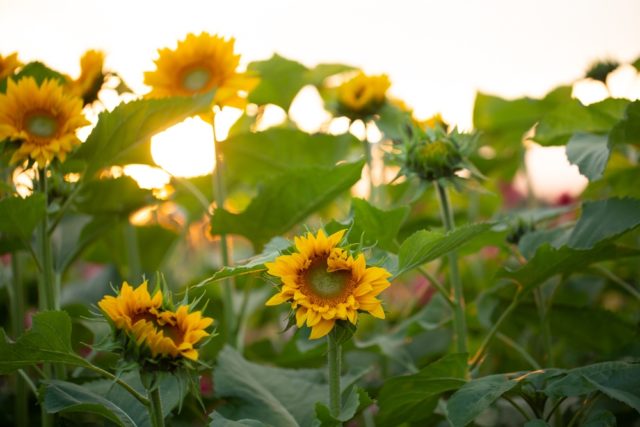
[[[88,124],[80,98],[66,94],[56,80],[38,86],[33,77],[9,79],[0,94],[0,141],[20,144],[11,163],[31,158],[44,168],[54,157],[64,161],[80,144],[76,129]]]

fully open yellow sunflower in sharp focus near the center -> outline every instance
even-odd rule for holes
[[[337,320],[354,325],[358,312],[384,319],[376,296],[389,287],[391,274],[380,267],[367,267],[362,254],[354,258],[338,247],[345,230],[327,237],[307,233],[295,238],[296,252],[265,264],[267,272],[282,281],[280,291],[266,305],[290,302],[296,324],[311,328],[311,339],[327,335]]]

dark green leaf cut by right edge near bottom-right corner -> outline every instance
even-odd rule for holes
[[[604,362],[572,369],[551,381],[545,389],[549,397],[581,396],[600,391],[640,412],[640,363]]]

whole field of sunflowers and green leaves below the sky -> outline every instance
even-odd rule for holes
[[[463,131],[387,75],[240,53],[188,34],[145,94],[98,50],[0,56],[0,425],[640,426],[640,101],[477,93]],[[185,120],[198,176],[152,156]],[[537,197],[533,146],[584,191]]]

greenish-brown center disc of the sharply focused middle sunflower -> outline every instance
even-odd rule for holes
[[[327,255],[313,259],[300,276],[302,293],[318,305],[343,302],[353,287],[351,271],[327,271]]]

